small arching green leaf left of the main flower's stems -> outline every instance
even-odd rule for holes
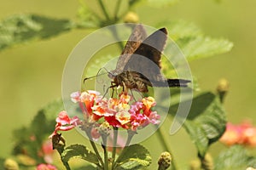
[[[79,158],[85,161],[89,161],[96,165],[99,164],[96,154],[82,144],[72,144],[65,148],[61,154],[63,161],[69,161],[71,158]]]

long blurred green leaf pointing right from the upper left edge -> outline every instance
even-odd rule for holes
[[[73,28],[70,20],[38,14],[13,15],[0,22],[0,50],[32,39],[54,37]]]

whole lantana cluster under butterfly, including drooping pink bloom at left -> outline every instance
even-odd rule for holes
[[[67,116],[67,111],[61,111],[56,118],[55,131],[50,138],[58,131],[67,131],[83,123],[101,127],[103,122],[107,122],[109,126],[122,127],[131,131],[137,131],[150,123],[160,123],[160,115],[153,111],[156,105],[153,97],[135,101],[131,95],[123,92],[118,98],[107,99],[103,98],[99,92],[88,90],[71,94],[71,99],[79,104],[84,120],[80,120],[78,116],[70,118]],[[93,139],[100,136],[95,127],[91,128],[90,133]]]

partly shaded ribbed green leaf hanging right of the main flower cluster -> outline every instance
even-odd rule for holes
[[[172,105],[170,113],[176,113],[177,108],[178,104]],[[186,118],[183,127],[195,143],[199,156],[204,157],[210,144],[217,141],[225,130],[225,112],[218,96],[204,93],[195,97]]]

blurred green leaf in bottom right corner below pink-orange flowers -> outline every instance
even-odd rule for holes
[[[256,168],[256,157],[249,156],[247,150],[241,145],[234,145],[222,151],[215,160],[215,170]]]

